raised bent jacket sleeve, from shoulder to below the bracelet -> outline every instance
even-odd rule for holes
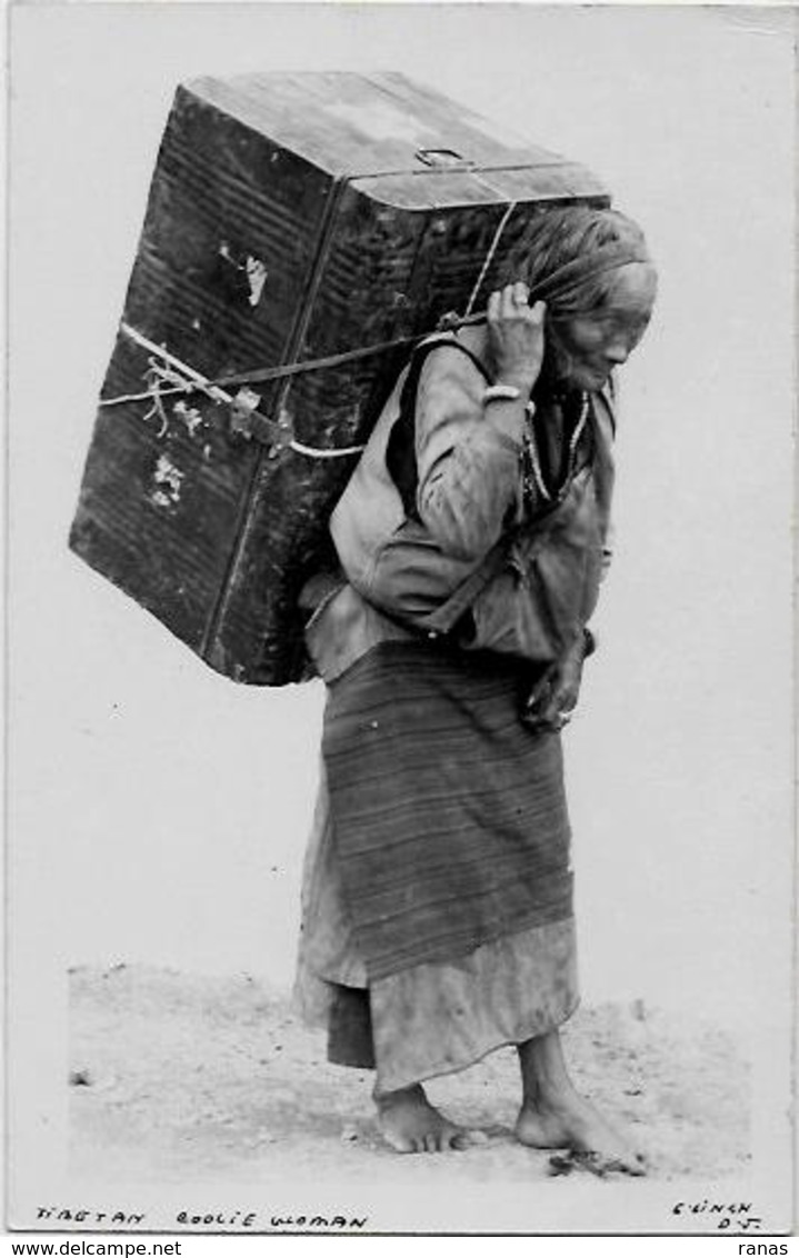
[[[521,508],[525,415],[483,406],[484,389],[467,355],[442,346],[429,355],[416,392],[416,511],[458,559],[484,555]]]

